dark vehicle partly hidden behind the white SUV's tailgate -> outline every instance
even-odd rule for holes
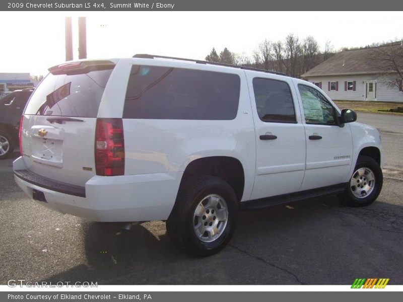
[[[0,160],[13,153],[25,105],[33,90],[16,90],[0,100]]]

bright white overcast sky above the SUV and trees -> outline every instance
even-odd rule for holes
[[[45,75],[65,60],[64,20],[73,17],[78,59],[78,17],[87,17],[87,57],[136,53],[204,59],[213,47],[251,55],[265,38],[313,36],[335,50],[400,40],[401,12],[0,12],[0,72]]]

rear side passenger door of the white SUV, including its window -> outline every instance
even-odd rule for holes
[[[248,86],[256,133],[251,199],[297,192],[305,170],[305,133],[292,80],[249,73]]]

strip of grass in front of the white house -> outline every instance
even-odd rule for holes
[[[388,110],[397,109],[397,107],[403,107],[403,103],[393,103],[393,102],[369,102],[369,101],[334,101],[340,109],[353,109],[358,112],[371,112],[371,113],[381,113],[381,114],[393,114],[393,115],[403,115],[403,113],[397,112],[382,112],[378,110]]]

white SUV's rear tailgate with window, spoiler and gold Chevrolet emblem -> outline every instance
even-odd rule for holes
[[[23,158],[30,170],[84,186],[95,175],[98,109],[115,64],[83,61],[50,68],[24,112]]]

